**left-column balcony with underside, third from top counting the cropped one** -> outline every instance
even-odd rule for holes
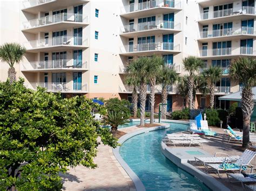
[[[63,48],[66,50],[74,48],[87,48],[87,39],[83,40],[82,37],[55,37],[48,39],[32,40],[24,44],[27,52],[36,53],[39,51],[48,52],[51,51],[61,51]]]

